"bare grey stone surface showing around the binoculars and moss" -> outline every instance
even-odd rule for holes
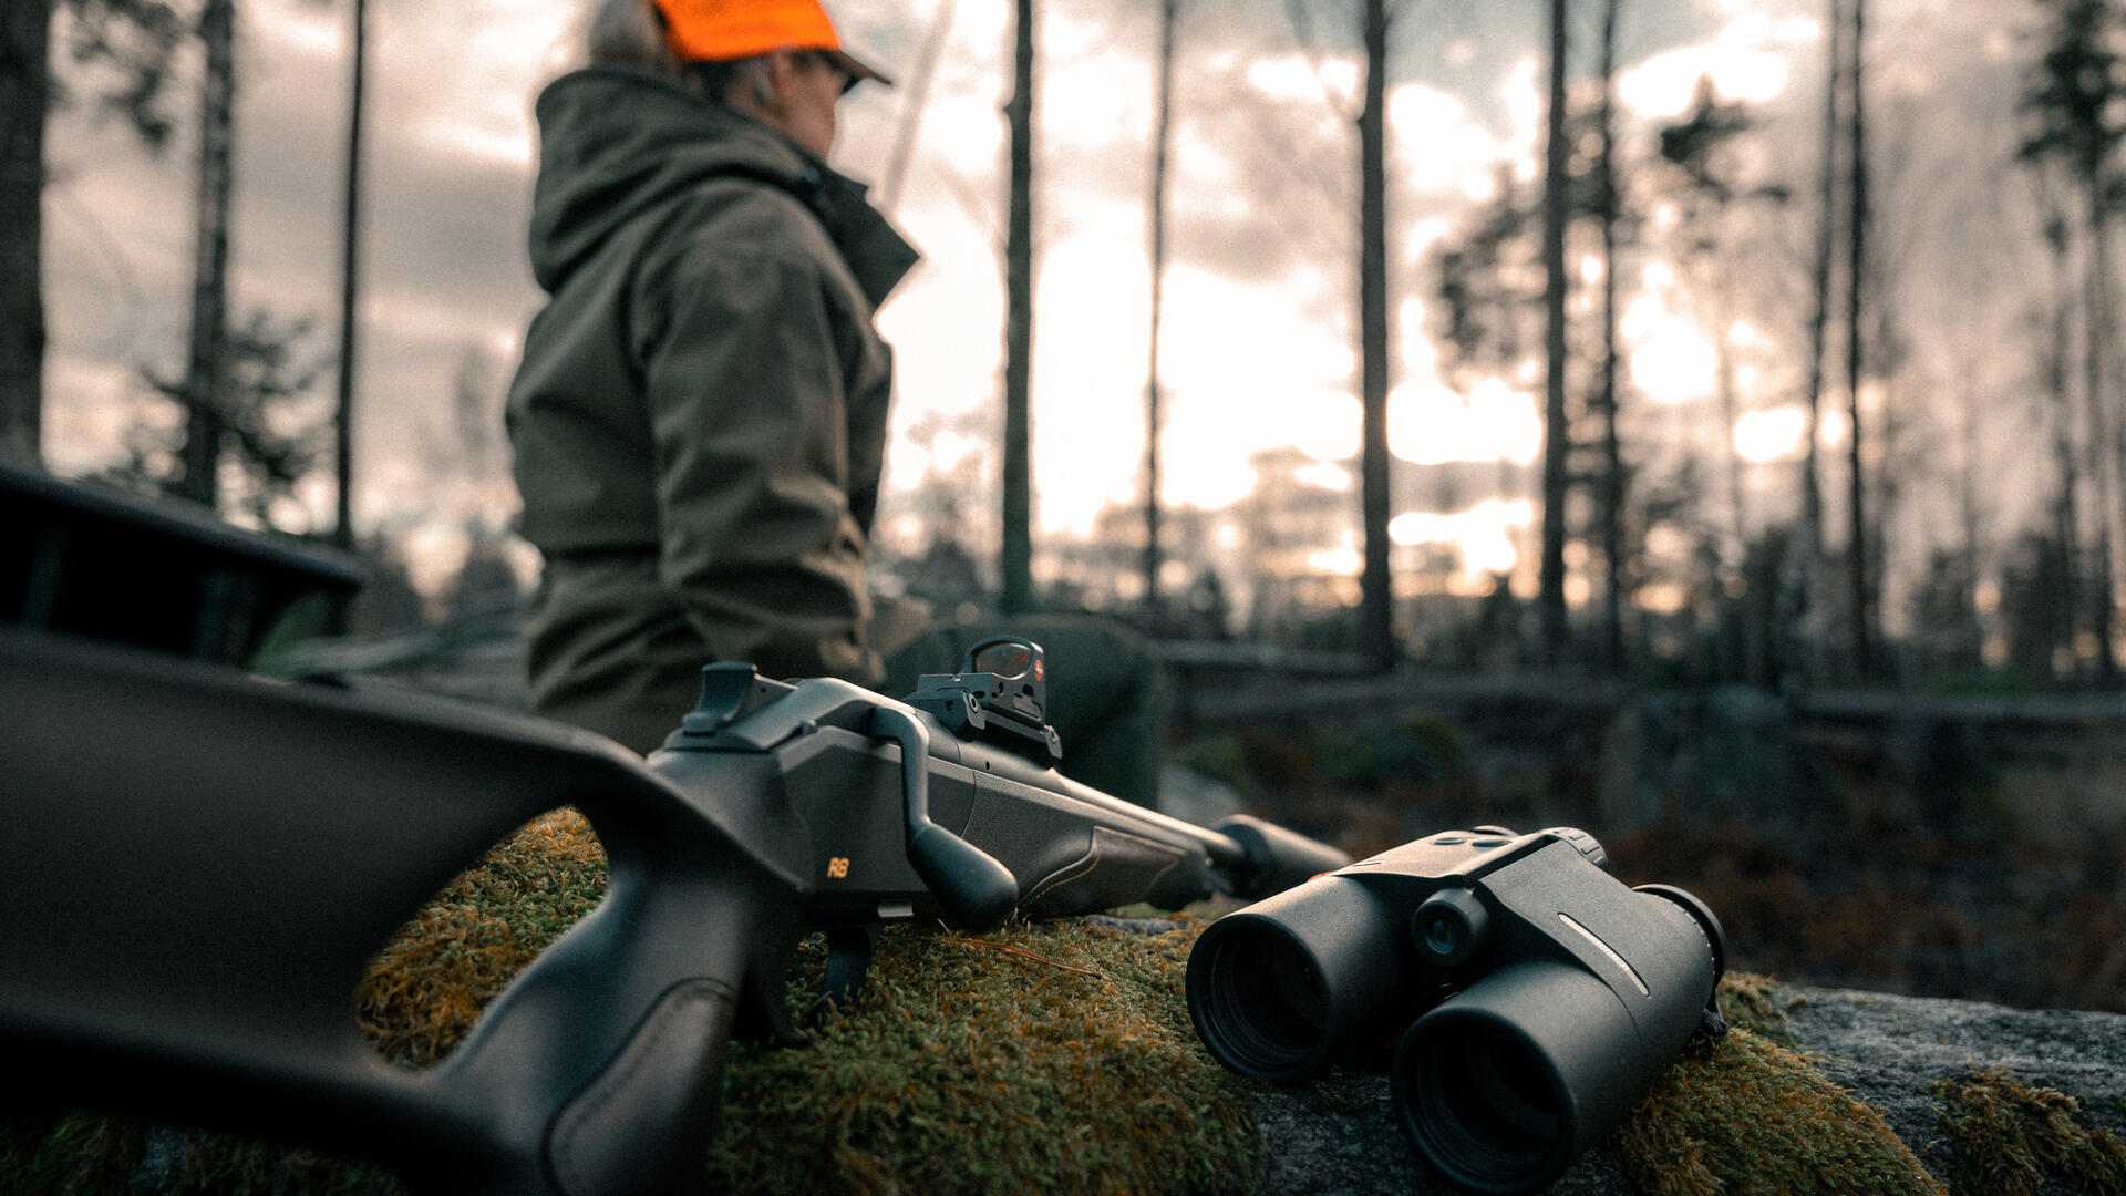
[[[2090,1122],[2126,1136],[2126,1015],[2026,1011],[1967,1000],[1845,990],[1788,990],[1788,1030],[1818,1068],[1877,1111],[1937,1179],[1952,1145],[1930,1087],[1973,1068],[2007,1068],[2030,1087],[2056,1087]],[[1388,1109],[1386,1075],[1333,1073],[1265,1094],[1256,1107],[1273,1196],[1450,1196],[1416,1158]],[[1590,1151],[1550,1187],[1560,1196],[1629,1192]]]

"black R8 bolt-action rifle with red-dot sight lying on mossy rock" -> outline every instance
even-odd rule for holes
[[[540,719],[0,630],[0,1102],[123,1102],[432,1192],[661,1192],[699,1162],[731,1034],[789,1034],[806,932],[846,990],[882,921],[1259,898],[1348,862],[1067,781],[1040,681],[1023,643],[908,702],[716,666],[644,764]],[[385,1064],[353,1017],[366,962],[563,804],[606,847],[604,902],[446,1060]]]

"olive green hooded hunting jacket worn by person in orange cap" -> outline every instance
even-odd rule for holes
[[[876,683],[863,568],[916,262],[780,132],[627,68],[538,100],[532,272],[508,396],[532,707],[648,751],[702,664]]]

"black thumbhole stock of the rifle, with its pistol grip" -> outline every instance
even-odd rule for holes
[[[17,1094],[351,1149],[434,1190],[617,1192],[583,1158],[621,1139],[589,1130],[655,1096],[625,1145],[676,1175],[742,994],[780,998],[778,864],[597,736],[15,634],[0,692]],[[606,900],[446,1062],[391,1068],[353,1017],[366,962],[561,804],[606,845]]]

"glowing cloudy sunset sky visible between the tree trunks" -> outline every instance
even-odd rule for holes
[[[969,536],[972,551],[989,555],[1001,485],[1006,126],[999,106],[1010,83],[1003,53],[1010,11],[959,4],[944,53],[918,87],[923,26],[944,11],[940,4],[829,0],[829,9],[850,45],[901,79],[891,89],[859,87],[842,102],[833,166],[884,183],[895,145],[914,132],[887,213],[923,251],[923,262],[878,313],[897,377],[880,526],[895,545],[921,547],[927,532],[910,513],[933,511],[931,496],[946,487],[957,509],[980,513],[959,532]],[[72,19],[64,13],[70,9],[62,6],[60,23]],[[1037,551],[1078,551],[1135,526],[1146,500],[1152,283],[1146,130],[1154,113],[1157,21],[1135,9],[1127,9],[1127,19],[1118,13],[1091,0],[1048,0],[1042,11],[1031,340]],[[442,468],[451,443],[451,377],[476,358],[500,387],[514,368],[514,345],[540,302],[523,260],[536,166],[532,104],[576,57],[578,19],[580,4],[466,0],[385,6],[374,21],[376,132],[366,198],[372,228],[364,249],[355,421],[357,458],[366,462],[357,470],[355,515],[364,526],[444,517],[446,502],[438,496],[446,487],[423,479]],[[1813,194],[1807,181],[1816,155],[1801,132],[1818,119],[1824,26],[1816,11],[1758,0],[1665,2],[1637,19],[1620,47],[1616,81],[1620,145],[1637,155],[1629,189],[1643,217],[1633,232],[1637,240],[1616,262],[1622,451],[1635,487],[1658,492],[1690,462],[1694,485],[1718,496],[1722,509],[1733,506],[1726,468],[1739,462],[1748,538],[1794,511],[1794,475],[1777,466],[1796,462],[1807,447],[1801,413],[1807,287],[1794,262],[1805,260],[1816,228],[1813,209],[1803,202]],[[1278,485],[1310,504],[1290,528],[1278,530],[1295,568],[1310,553],[1337,577],[1359,568],[1354,130],[1365,64],[1352,32],[1333,30],[1324,17],[1303,23],[1312,26],[1305,36],[1284,4],[1235,0],[1218,19],[1184,21],[1178,57],[1159,349],[1159,502],[1222,519],[1225,538],[1203,536],[1216,543],[1201,568],[1218,568],[1235,583],[1250,568],[1248,553],[1261,549],[1256,536],[1267,534],[1242,528],[1237,513],[1259,513],[1250,504]],[[1924,53],[1884,51],[1903,64],[1886,85],[1901,102],[1958,98],[1947,83],[1952,74],[1924,64],[1954,60],[2005,72],[2020,62],[2022,43],[2003,32],[2005,19],[1973,11],[1956,28],[1973,32],[1969,45],[1947,36],[1928,40],[1913,26],[1899,36],[1918,38],[1909,45],[1924,43]],[[1452,549],[1458,585],[1488,585],[1492,572],[1533,575],[1541,519],[1548,370],[1533,204],[1546,60],[1526,34],[1524,15],[1507,19],[1505,11],[1480,6],[1454,28],[1399,34],[1403,49],[1386,81],[1393,538],[1412,560],[1439,560],[1427,553]],[[242,160],[232,238],[238,306],[323,313],[336,302],[338,217],[325,183],[338,177],[344,145],[338,123],[344,21],[310,0],[247,0],[242,47],[251,72],[238,121]],[[1575,62],[1582,72],[1575,87],[1592,83],[1584,77],[1592,55],[1575,51],[1580,57],[1586,60]],[[1722,104],[1743,106],[1754,121],[1731,162],[1720,164],[1735,172],[1737,194],[1777,187],[1786,198],[1748,198],[1714,213],[1660,160],[1658,134],[1688,113],[1701,79],[1711,81]],[[910,119],[912,104],[921,104],[918,123]],[[140,368],[168,372],[183,358],[189,166],[183,153],[142,153],[113,121],[91,121],[81,106],[62,109],[49,136],[57,168],[47,202],[45,451],[68,472],[94,472],[123,455],[130,428],[159,428],[142,415],[151,398],[136,383]],[[1994,136],[2011,138],[2013,130]],[[2013,147],[2003,145],[1975,153],[2009,162]],[[1896,185],[1913,194],[1954,189],[1941,183],[1958,177],[1941,164],[1950,149],[1956,147],[1933,140],[1901,149],[1916,155],[1913,179],[1935,183]],[[2020,204],[2022,192],[2009,192]],[[1446,338],[1452,304],[1439,262],[1467,249],[1505,196],[1524,211],[1497,279],[1488,281],[1495,292],[1480,300],[1490,306],[1475,313],[1486,323],[1480,340],[1490,340],[1465,353]],[[1886,211],[1905,202],[1916,215],[1899,226],[1903,232],[1892,228],[1892,236],[1933,236],[1926,230],[1935,226],[1950,236],[1947,230],[1962,228],[1943,215],[1950,209],[1896,196]],[[1962,243],[2005,240],[2003,230],[2018,213],[1996,213],[1992,232]],[[1575,223],[1567,247],[1573,413],[1592,411],[1594,402],[1607,270],[1594,232],[1592,219]],[[1720,251],[1707,253],[1709,243],[1720,243]],[[1894,330],[1909,343],[1909,377],[1873,377],[1886,368],[1873,364],[1862,383],[1862,421],[1896,413],[1920,428],[1924,419],[1913,411],[1947,402],[1950,394],[1986,419],[2013,419],[2009,413],[2022,411],[2026,396],[1994,392],[2026,392],[2039,360],[2020,345],[1977,349],[2013,334],[2003,332],[2007,323],[1971,321],[1962,353],[1981,360],[1969,370],[1943,366],[1954,358],[1935,347],[1958,319],[1950,300],[1967,296],[1971,285],[1937,285],[1926,255],[1907,253],[1916,253],[1913,264],[1905,266],[1909,277],[1892,281],[1896,292],[1941,296],[1947,317],[1930,319],[1935,313],[1913,302]],[[2041,268],[2001,275],[2045,277]],[[2018,296],[2003,296],[2001,304],[2032,298]],[[1833,355],[1843,351],[1841,338],[1835,330]],[[330,358],[321,340],[313,355]],[[1958,385],[1920,377],[1924,370]],[[1833,372],[1830,381],[1841,379]],[[1731,428],[1722,426],[1722,402],[1733,404]],[[1599,443],[1594,423],[1571,434],[1582,447]],[[1839,451],[1850,434],[1845,398],[1830,385],[1818,432],[1830,470],[1826,494],[1837,494],[1835,470],[1843,468]],[[1990,466],[1994,455],[2003,458],[1996,472],[2028,481],[2018,496],[2047,492],[2035,481],[2045,436],[1986,428],[1981,443]],[[1882,468],[1882,441],[1867,441],[1862,451],[1871,468]],[[1286,455],[1269,468],[1263,462],[1273,453]],[[1575,481],[1592,479],[1588,470],[1597,464],[1590,453],[1575,455]],[[330,487],[300,494],[321,506]],[[1913,489],[1905,511],[1920,519],[1928,502]],[[1988,517],[2005,536],[2026,506],[2024,498],[2001,500]],[[1699,517],[1726,521],[1726,515]],[[313,511],[313,524],[321,519],[323,511]],[[1731,528],[1722,532],[1733,536]],[[1582,534],[1592,532],[1575,530],[1575,547]],[[2126,528],[2117,534],[2126,536]],[[415,547],[446,541],[425,536]],[[1584,585],[1580,575],[1599,577],[1599,560],[1575,562],[1569,568],[1575,585]],[[1665,609],[1667,598],[1652,598],[1650,607]]]

